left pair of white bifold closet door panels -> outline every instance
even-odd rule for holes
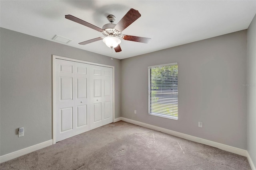
[[[88,66],[56,59],[56,142],[90,130]]]

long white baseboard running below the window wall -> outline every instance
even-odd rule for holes
[[[209,140],[202,139],[202,138],[199,138],[199,137],[194,137],[194,136],[191,136],[191,135],[186,135],[184,133],[180,133],[180,132],[176,132],[176,131],[171,131],[169,129],[164,129],[162,127],[157,127],[157,126],[150,125],[150,124],[147,124],[147,123],[134,121],[132,119],[127,119],[127,118],[124,118],[124,117],[121,117],[121,120],[126,121],[128,123],[135,124],[135,125],[139,125],[139,126],[142,126],[142,127],[146,127],[148,129],[153,129],[153,130],[156,130],[156,131],[167,133],[169,135],[173,135],[173,136],[176,136],[176,137],[180,137],[180,138],[183,138],[183,139],[194,141],[194,142],[197,142],[197,143],[202,143],[204,145],[208,145],[208,146],[211,146],[211,147],[216,147],[218,149],[225,150],[225,151],[228,151],[228,152],[231,152],[231,153],[239,154],[239,155],[242,155],[242,156],[247,156],[248,155],[247,150],[244,150],[244,149],[231,147],[231,146],[224,145],[224,144],[221,144],[221,143],[209,141]]]

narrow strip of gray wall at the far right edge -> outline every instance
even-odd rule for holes
[[[256,166],[256,16],[247,31],[247,150]]]

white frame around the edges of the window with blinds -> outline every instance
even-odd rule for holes
[[[178,120],[178,81],[177,81],[177,116],[173,115],[168,115],[166,113],[151,113],[151,106],[152,106],[152,100],[151,100],[151,68],[156,68],[156,67],[164,67],[164,66],[172,66],[172,65],[177,65],[178,63],[169,63],[169,64],[160,64],[160,65],[154,65],[154,66],[148,66],[148,114],[149,115],[154,115],[154,116],[159,116],[159,117],[164,117],[168,119],[173,119],[173,120]],[[178,69],[177,69],[178,72]],[[178,79],[178,76],[177,76]]]

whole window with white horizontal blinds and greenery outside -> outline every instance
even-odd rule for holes
[[[178,63],[148,67],[148,114],[178,120]]]

